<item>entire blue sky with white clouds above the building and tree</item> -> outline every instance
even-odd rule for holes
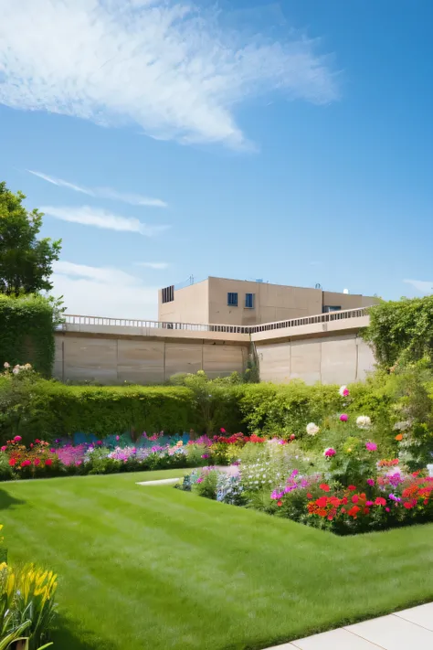
[[[155,318],[191,274],[433,292],[431,0],[0,16],[0,179],[63,240],[69,313]]]

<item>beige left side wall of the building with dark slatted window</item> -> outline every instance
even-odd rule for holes
[[[174,290],[174,301],[162,303],[158,292],[158,320],[164,323],[206,324],[209,321],[208,282],[197,282],[184,289]]]

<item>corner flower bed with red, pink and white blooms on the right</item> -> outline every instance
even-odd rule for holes
[[[349,399],[347,387],[340,395]],[[413,457],[400,434],[392,450],[397,456],[384,458],[374,440],[380,428],[368,416],[351,423],[338,413],[325,432],[314,422],[306,432],[301,444],[294,436],[244,442],[230,474],[206,467],[177,487],[340,535],[433,521],[433,476],[427,467],[411,471]]]

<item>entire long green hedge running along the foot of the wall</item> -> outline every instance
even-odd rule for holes
[[[354,384],[347,403],[335,385],[307,386],[292,381],[280,386],[218,386],[209,382],[209,403],[204,404],[203,395],[197,399],[193,389],[183,386],[70,386],[32,375],[0,377],[2,442],[16,434],[32,442],[76,432],[103,438],[125,432],[132,432],[133,437],[143,431],[215,433],[220,428],[269,435],[294,432],[298,436],[305,433],[308,422],[322,423],[343,410],[389,422],[395,401],[385,378]]]

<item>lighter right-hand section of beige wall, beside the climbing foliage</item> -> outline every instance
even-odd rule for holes
[[[259,342],[256,351],[260,380],[276,383],[299,378],[307,384],[347,384],[364,380],[375,366],[372,350],[354,333]]]

